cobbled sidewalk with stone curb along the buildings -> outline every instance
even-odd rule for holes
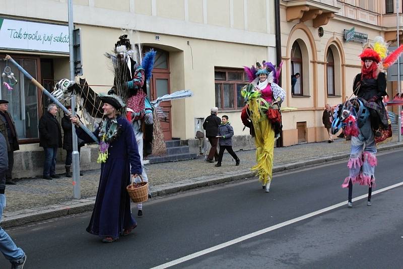
[[[403,147],[393,140],[378,146],[378,151]],[[275,148],[274,173],[326,161],[347,159],[350,141],[339,139],[334,143],[310,143]],[[255,164],[255,151],[236,152],[241,160],[239,166],[226,153],[221,167],[199,159],[146,165],[153,196],[183,191],[195,187],[252,177],[250,168]],[[18,168],[15,168],[18,169]],[[30,178],[16,180],[17,185],[7,185],[7,207],[3,227],[20,225],[67,214],[89,211],[97,193],[100,169],[85,171],[81,177],[82,199],[73,199],[72,178],[45,180]],[[348,170],[342,171],[340,182]],[[274,180],[276,175],[274,174]]]

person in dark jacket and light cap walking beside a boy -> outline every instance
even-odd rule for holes
[[[203,128],[206,130],[206,137],[209,139],[211,144],[211,149],[209,155],[207,156],[206,162],[213,163],[213,157],[217,161],[217,144],[218,144],[218,126],[221,123],[221,119],[217,117],[218,107],[213,107],[211,109],[211,115],[208,116],[203,123]]]

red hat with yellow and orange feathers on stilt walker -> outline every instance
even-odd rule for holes
[[[403,45],[400,45],[395,51],[387,55],[387,49],[389,44],[385,42],[383,37],[377,36],[374,38],[374,48],[366,48],[360,54],[361,60],[371,59],[376,62],[382,61],[384,68],[389,68],[403,52]]]

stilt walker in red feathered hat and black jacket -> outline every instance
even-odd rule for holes
[[[349,188],[348,207],[351,208],[353,184],[368,186],[367,205],[371,206],[372,187],[375,186],[375,166],[377,165],[376,144],[391,138],[392,131],[387,111],[382,102],[386,93],[386,76],[381,72],[397,59],[403,47],[387,56],[387,45],[382,37],[375,38],[374,49],[366,48],[360,54],[361,73],[354,79],[353,94],[335,108],[332,133],[342,127],[346,136],[351,136],[351,153],[348,162],[349,176],[342,187]],[[383,59],[383,61],[382,61]]]

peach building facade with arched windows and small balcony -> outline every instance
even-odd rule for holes
[[[354,77],[361,69],[358,55],[373,45],[376,36],[392,45],[396,42],[395,1],[280,2],[282,87],[287,92],[285,105],[297,108],[283,112],[283,145],[325,141],[324,106],[340,104],[352,95]],[[295,73],[301,77],[292,94]],[[396,88],[396,82],[387,83],[389,96]]]

